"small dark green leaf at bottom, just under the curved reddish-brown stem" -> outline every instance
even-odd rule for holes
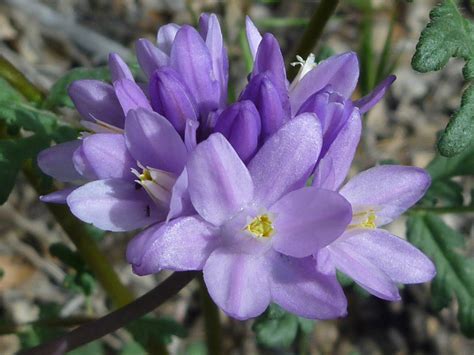
[[[186,328],[171,318],[143,317],[131,322],[127,329],[133,338],[145,348],[153,341],[169,344],[172,336],[184,338],[188,335]]]

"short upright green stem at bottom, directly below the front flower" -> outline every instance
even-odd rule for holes
[[[219,320],[219,309],[207,292],[206,284],[199,277],[199,295],[201,307],[204,314],[204,325],[206,328],[206,343],[209,355],[220,355],[222,346],[221,325]]]

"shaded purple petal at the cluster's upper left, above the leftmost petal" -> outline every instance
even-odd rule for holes
[[[123,128],[125,116],[112,85],[98,80],[76,80],[68,88],[77,111],[86,120]]]

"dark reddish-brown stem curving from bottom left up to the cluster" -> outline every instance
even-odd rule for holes
[[[125,326],[129,322],[143,317],[145,314],[153,311],[178,293],[194,277],[196,277],[197,274],[198,273],[195,271],[175,272],[157,287],[140,298],[137,298],[132,303],[109,313],[102,318],[81,325],[60,338],[27,349],[20,352],[20,354],[59,355],[99,339],[104,335]]]

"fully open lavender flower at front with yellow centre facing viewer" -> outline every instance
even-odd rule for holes
[[[248,167],[221,134],[211,135],[186,165],[196,214],[133,239],[127,259],[134,272],[202,269],[213,300],[237,319],[261,314],[270,302],[308,318],[344,315],[335,275],[319,273],[312,257],[351,218],[338,193],[304,187],[321,145],[312,114],[284,125]]]

